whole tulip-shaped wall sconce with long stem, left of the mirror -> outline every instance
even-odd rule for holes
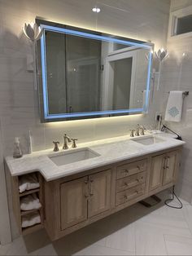
[[[30,65],[28,65],[27,70],[28,72],[33,71],[34,76],[34,90],[37,90],[37,40],[41,38],[43,30],[38,26],[36,23],[29,23],[24,24],[23,32],[26,38],[32,41],[33,46],[33,59],[30,56],[27,56],[27,63],[28,59],[32,59],[30,61]],[[33,65],[32,65],[33,64]]]

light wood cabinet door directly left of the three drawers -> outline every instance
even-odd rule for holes
[[[111,170],[89,176],[88,217],[101,214],[111,205]]]

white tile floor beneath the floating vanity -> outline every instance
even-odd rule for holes
[[[181,210],[133,205],[53,243],[41,230],[0,246],[0,255],[192,255],[192,205],[182,202]]]

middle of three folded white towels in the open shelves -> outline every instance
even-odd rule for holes
[[[40,209],[41,203],[36,194],[24,196],[20,199],[20,210]]]

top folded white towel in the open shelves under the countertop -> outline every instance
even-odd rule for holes
[[[26,174],[20,177],[20,193],[35,188],[39,188],[36,174]]]

